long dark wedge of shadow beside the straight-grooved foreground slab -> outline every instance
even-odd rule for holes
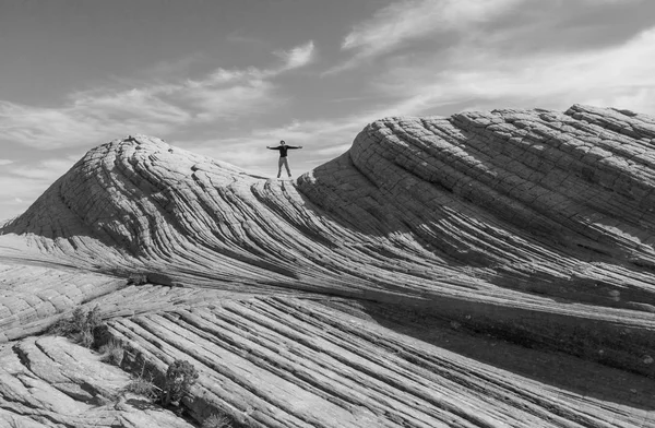
[[[655,411],[655,380],[548,349],[525,337],[499,337],[442,317],[434,310],[361,301],[365,318],[498,369],[591,396]]]

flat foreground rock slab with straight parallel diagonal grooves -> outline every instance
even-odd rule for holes
[[[647,417],[293,298],[121,319],[111,331],[159,371],[191,358],[200,419],[216,408],[289,428],[629,427]]]

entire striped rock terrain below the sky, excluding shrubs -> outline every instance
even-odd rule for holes
[[[382,119],[296,181],[98,146],[0,229],[0,427],[655,427],[654,189],[655,119],[579,105]],[[41,335],[78,307],[121,368]],[[124,393],[179,358],[183,412]]]

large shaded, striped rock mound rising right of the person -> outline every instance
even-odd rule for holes
[[[653,119],[583,106],[388,118],[300,190],[358,229],[410,230],[469,264],[520,262],[538,240],[556,259],[652,266],[653,148]]]

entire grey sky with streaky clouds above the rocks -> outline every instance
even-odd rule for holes
[[[388,116],[655,116],[653,0],[0,0],[0,219],[143,133],[274,177]]]

